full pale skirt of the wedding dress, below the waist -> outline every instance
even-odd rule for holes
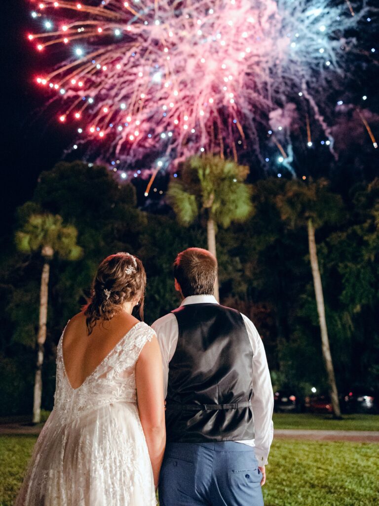
[[[135,403],[70,417],[53,410],[35,445],[15,506],[155,506],[145,435]]]

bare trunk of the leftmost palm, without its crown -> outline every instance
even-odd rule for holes
[[[34,379],[33,399],[33,423],[38,424],[41,420],[41,397],[42,397],[42,364],[44,355],[44,343],[46,341],[46,321],[48,319],[48,289],[49,289],[50,265],[43,264],[41,275],[41,290],[39,296],[39,328],[38,328],[38,354],[37,367]]]

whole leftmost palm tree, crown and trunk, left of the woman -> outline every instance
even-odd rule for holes
[[[50,262],[54,254],[66,260],[79,259],[82,255],[82,248],[76,244],[76,239],[76,228],[72,225],[63,225],[60,216],[51,214],[32,214],[21,230],[16,232],[17,249],[25,253],[39,252],[43,259],[39,297],[38,352],[33,399],[33,423],[35,424],[39,423],[41,414],[41,372],[48,317]]]

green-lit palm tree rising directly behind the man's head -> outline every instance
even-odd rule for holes
[[[243,222],[252,212],[249,187],[244,184],[248,173],[249,167],[219,156],[193,156],[184,162],[181,180],[170,182],[168,200],[179,223],[189,226],[199,216],[205,220],[208,249],[216,258],[217,226]],[[218,300],[218,279],[214,294]]]

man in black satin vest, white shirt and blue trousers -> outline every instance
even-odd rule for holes
[[[213,297],[217,262],[188,248],[174,263],[182,303],[152,326],[161,347],[167,446],[161,506],[262,506],[273,394],[253,323]]]

